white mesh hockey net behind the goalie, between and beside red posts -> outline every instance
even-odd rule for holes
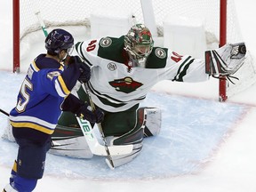
[[[221,1],[221,0],[220,0]],[[163,21],[172,13],[184,17],[204,18],[204,30],[208,48],[216,48],[220,44],[220,1],[218,0],[154,0],[152,4],[156,23],[156,31],[159,37],[164,36]],[[15,1],[13,1],[15,2]],[[18,2],[18,1],[17,1]],[[91,14],[96,10],[105,10],[112,14],[113,10],[119,12],[131,12],[136,22],[144,23],[143,7],[140,0],[76,0],[72,3],[60,0],[20,0],[20,44],[34,32],[41,30],[35,12],[40,11],[46,28],[63,26],[82,26],[91,28]],[[113,16],[115,16],[113,12]],[[118,15],[116,15],[118,17]],[[227,43],[243,42],[236,16],[234,0],[227,0]],[[20,50],[22,52],[22,50]],[[23,55],[21,53],[22,58]],[[246,74],[246,75],[244,75]],[[249,57],[245,65],[236,74],[240,79],[236,85],[227,85],[227,94],[231,96],[238,90],[242,91],[246,86],[254,83],[255,67],[252,58]]]

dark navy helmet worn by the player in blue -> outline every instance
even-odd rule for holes
[[[68,31],[53,29],[45,39],[45,48],[52,54],[58,54],[61,50],[67,50],[71,54],[74,47],[74,38]]]

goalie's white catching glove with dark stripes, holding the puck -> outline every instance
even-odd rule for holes
[[[225,44],[219,49],[205,52],[205,73],[212,76],[229,76],[242,67],[245,60],[244,43]]]

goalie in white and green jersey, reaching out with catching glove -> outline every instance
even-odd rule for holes
[[[114,166],[127,164],[140,155],[143,140],[161,130],[161,109],[154,104],[141,108],[151,87],[162,80],[203,82],[211,76],[232,76],[244,64],[244,43],[226,44],[206,51],[205,60],[180,55],[170,49],[155,47],[151,33],[143,24],[136,24],[124,36],[102,37],[76,43],[76,53],[91,68],[88,84],[76,84],[73,93],[104,112],[100,124],[109,148],[132,146],[127,153],[111,154]],[[80,108],[74,114],[79,116]],[[171,110],[171,109],[170,109]],[[63,112],[52,134],[50,153],[60,156],[92,158],[99,154],[84,139],[76,116]],[[92,134],[99,124],[94,126]],[[93,133],[94,132],[94,133]],[[90,134],[91,134],[90,133]],[[12,132],[6,131],[9,138]],[[99,140],[100,145],[104,146]]]

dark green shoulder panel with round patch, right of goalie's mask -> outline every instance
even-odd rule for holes
[[[167,48],[153,47],[152,52],[148,56],[146,68],[165,68],[167,58]]]

